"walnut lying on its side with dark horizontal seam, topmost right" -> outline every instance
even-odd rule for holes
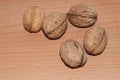
[[[72,6],[68,12],[70,23],[77,27],[90,27],[97,21],[97,13],[85,4]]]

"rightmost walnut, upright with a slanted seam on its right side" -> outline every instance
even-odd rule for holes
[[[103,52],[107,45],[107,33],[102,27],[93,27],[86,32],[84,48],[91,55],[98,55]]]

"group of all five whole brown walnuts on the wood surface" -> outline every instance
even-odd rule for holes
[[[72,6],[68,13],[53,13],[45,16],[43,9],[37,6],[28,8],[23,16],[24,28],[30,33],[42,30],[51,40],[59,39],[66,32],[68,21],[79,28],[87,28],[97,21],[97,13],[86,4]],[[103,52],[107,44],[107,33],[104,28],[94,26],[85,34],[83,47],[75,40],[63,42],[59,53],[63,62],[71,67],[83,66],[87,61],[87,54],[98,55]]]

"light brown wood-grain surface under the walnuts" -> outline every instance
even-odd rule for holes
[[[48,15],[66,13],[82,2],[97,10],[94,26],[106,29],[108,45],[101,55],[88,55],[85,66],[70,69],[61,61],[59,47],[67,39],[82,45],[89,28],[69,23],[63,37],[49,40],[42,31],[27,32],[22,16],[34,5]],[[120,80],[120,0],[0,0],[0,80]]]

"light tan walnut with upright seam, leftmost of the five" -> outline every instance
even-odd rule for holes
[[[40,31],[44,17],[45,13],[40,7],[33,6],[28,8],[23,15],[24,28],[31,33]]]

